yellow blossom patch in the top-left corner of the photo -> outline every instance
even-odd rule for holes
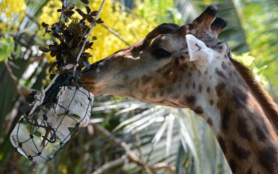
[[[20,4],[20,5],[18,5]],[[0,1],[0,29],[2,33],[6,31],[16,31],[25,15],[26,4],[24,0],[3,0]]]

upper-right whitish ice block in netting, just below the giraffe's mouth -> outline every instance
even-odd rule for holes
[[[82,87],[65,86],[57,95],[54,113],[67,127],[86,127],[91,116],[94,95]]]

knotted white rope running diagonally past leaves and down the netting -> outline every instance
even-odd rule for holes
[[[92,32],[94,26],[96,25],[95,21],[99,17],[100,11],[101,11],[102,7],[104,6],[104,2],[105,2],[105,0],[102,1],[101,6],[99,7],[99,11],[96,13],[96,17],[95,17],[94,21],[91,23],[91,28],[90,28],[90,30],[89,30],[89,32],[87,34],[87,37],[84,40],[83,45],[82,45],[82,47],[81,47],[81,49],[80,49],[80,51],[78,53],[78,56],[76,58],[76,62],[78,62],[78,60],[79,60],[79,58],[80,58],[80,56],[81,56],[81,54],[82,54],[82,52],[83,52],[83,50],[85,48],[86,43],[89,40],[89,36],[91,36],[91,32]],[[69,70],[69,69],[73,68],[73,73],[75,73],[76,67],[78,67],[78,63],[76,65],[73,65],[73,64],[66,65],[66,66],[62,67],[62,70]],[[35,100],[33,102],[33,107],[31,109],[31,111],[29,112],[28,116],[30,116],[34,112],[34,110],[36,109],[36,107],[38,105],[43,103],[43,99],[45,97],[45,92],[51,87],[51,85],[55,82],[55,80],[57,79],[57,77],[59,75],[60,75],[60,71],[58,70],[57,74],[51,80],[50,84],[45,89],[42,89],[40,92],[37,92],[37,94],[34,96]]]

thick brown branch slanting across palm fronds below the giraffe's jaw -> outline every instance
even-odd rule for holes
[[[131,151],[131,149],[128,147],[128,145],[126,144],[126,142],[122,141],[120,138],[116,138],[113,136],[113,134],[111,134],[111,132],[109,132],[107,129],[105,129],[104,127],[102,127],[101,125],[97,124],[97,123],[92,123],[94,129],[96,132],[98,132],[101,136],[106,136],[106,137],[110,137],[111,141],[113,141],[114,143],[122,146],[125,151],[126,151],[126,155],[127,158],[133,162],[136,163],[138,165],[143,166],[143,162],[140,160],[140,158],[138,158],[135,153],[133,151]],[[119,160],[120,161],[120,160]],[[105,164],[104,164],[105,165]],[[147,165],[148,166],[148,165]],[[157,163],[155,165],[151,165],[148,166],[148,168],[151,171],[156,171],[156,170],[167,170],[169,171],[169,173],[173,174],[175,171],[175,166],[173,165],[168,165],[167,163]]]

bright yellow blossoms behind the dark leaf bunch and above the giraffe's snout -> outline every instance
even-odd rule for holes
[[[92,11],[98,10],[101,2],[102,0],[90,1],[90,4],[88,4],[88,6],[91,8]],[[56,10],[61,6],[62,4],[59,1],[50,0],[48,4],[42,9],[42,15],[40,16],[39,23],[45,22],[51,25],[52,23],[59,21],[60,13],[56,12]],[[86,12],[83,4],[76,3],[74,9],[77,8]],[[82,18],[77,13],[77,11],[75,11],[75,14],[72,15],[72,18],[76,17],[80,19]],[[124,40],[126,40],[130,44],[133,44],[137,40],[140,40],[141,38],[146,36],[153,28],[155,28],[155,26],[157,26],[154,19],[147,20],[136,14],[136,12],[125,12],[121,10],[119,3],[113,3],[113,1],[105,2],[99,18],[104,21],[104,25],[116,31],[124,38]],[[44,31],[43,28],[41,28],[40,30]],[[42,33],[40,33],[40,36],[41,35]],[[45,37],[47,37],[47,35],[48,34],[46,34]],[[92,38],[92,36],[96,36],[98,39],[92,46],[94,50],[89,49],[88,51],[86,51],[93,55],[93,57],[89,59],[90,63],[101,60],[108,55],[128,46],[125,42],[123,42],[101,24],[97,24],[94,27],[90,39]],[[47,54],[47,57],[51,62],[55,59],[50,58],[50,54]]]

